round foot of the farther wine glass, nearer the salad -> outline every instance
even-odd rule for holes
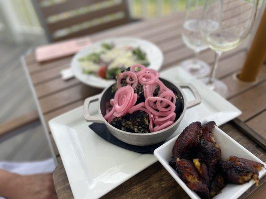
[[[181,62],[179,65],[182,69],[198,79],[208,76],[211,72],[209,64],[199,59],[188,59]]]

